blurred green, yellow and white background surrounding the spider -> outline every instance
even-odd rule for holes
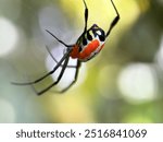
[[[110,0],[86,0],[88,26],[104,31],[115,12]],[[30,86],[55,66],[64,47],[84,28],[82,0],[0,0],[0,122],[163,122],[163,1],[114,0],[121,14],[105,47],[83,63],[77,83],[64,94],[53,87],[37,96]],[[60,49],[59,49],[60,48]],[[73,79],[68,69],[58,86]],[[36,86],[50,84],[49,78]]]

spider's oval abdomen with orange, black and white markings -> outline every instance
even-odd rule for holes
[[[77,44],[71,52],[72,58],[80,61],[88,61],[93,58],[104,46],[105,34],[98,25],[93,24],[84,35],[79,37]]]

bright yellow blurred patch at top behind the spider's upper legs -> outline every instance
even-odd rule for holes
[[[121,19],[121,26],[130,25],[139,16],[140,10],[135,0],[114,0],[114,2],[120,10],[121,16],[123,17]],[[87,0],[87,3],[89,5],[90,13],[88,26],[97,23],[103,29],[108,29],[108,24],[115,16],[115,12],[111,5],[110,0]],[[73,17],[75,16],[76,24],[80,25],[80,23],[84,23],[84,4],[82,0],[61,0],[61,5],[63,7],[63,10],[66,12],[66,14]]]

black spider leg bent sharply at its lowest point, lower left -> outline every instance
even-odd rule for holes
[[[54,85],[57,85],[57,84],[60,82],[60,80],[62,79],[62,76],[63,76],[63,74],[64,74],[64,71],[65,71],[65,69],[66,69],[66,66],[67,66],[67,63],[68,63],[68,60],[70,60],[70,57],[65,59],[65,61],[64,61],[64,63],[63,63],[63,68],[62,68],[62,70],[61,70],[61,72],[60,72],[60,74],[59,74],[57,81],[53,82],[51,85],[49,85],[48,87],[46,87],[45,90],[42,90],[42,91],[40,91],[40,92],[37,92],[37,91],[35,90],[35,87],[34,87],[34,85],[32,85],[32,86],[33,86],[33,90],[35,91],[35,93],[36,93],[37,95],[43,94],[45,92],[49,91],[51,87],[53,87]]]

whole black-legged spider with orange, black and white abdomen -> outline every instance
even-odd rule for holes
[[[48,72],[47,74],[45,74],[43,76],[41,76],[41,78],[39,78],[35,81],[26,82],[26,83],[12,82],[12,84],[14,84],[14,85],[32,85],[34,91],[36,92],[36,94],[41,95],[41,94],[46,93],[47,91],[49,91],[51,87],[53,87],[54,85],[57,85],[60,82],[60,80],[62,79],[66,68],[75,68],[74,80],[71,82],[71,84],[68,84],[67,87],[60,91],[60,93],[63,93],[63,92],[67,91],[76,82],[77,76],[78,76],[79,67],[80,67],[82,62],[86,62],[86,61],[92,59],[93,57],[96,57],[101,51],[101,49],[104,46],[106,37],[109,37],[111,31],[113,29],[113,27],[117,24],[117,22],[120,20],[120,13],[118,13],[113,0],[110,0],[110,1],[111,1],[112,5],[115,10],[116,16],[113,19],[112,23],[110,24],[109,29],[108,29],[106,33],[101,27],[99,27],[97,24],[93,24],[90,28],[87,29],[88,8],[87,8],[86,1],[83,0],[84,5],[85,5],[85,27],[84,27],[84,32],[78,37],[77,42],[73,45],[67,45],[63,40],[59,39],[50,31],[46,29],[60,44],[62,44],[66,47],[65,54],[63,55],[61,60],[58,61],[52,56],[52,54],[50,52],[48,47],[46,46],[48,52],[50,54],[52,59],[57,62],[57,66],[50,72]],[[73,59],[77,59],[76,66],[68,66],[70,57],[73,58]],[[60,72],[57,81],[53,82],[52,84],[50,84],[48,87],[37,92],[36,88],[34,87],[34,85],[41,82],[47,76],[53,74],[59,67],[62,67],[62,69],[61,69],[61,72]]]

